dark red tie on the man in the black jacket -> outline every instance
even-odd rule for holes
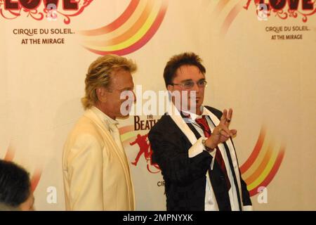
[[[206,137],[206,139],[208,139],[209,136],[211,136],[211,129],[209,129],[209,124],[206,121],[205,115],[203,115],[202,118],[195,119],[195,122],[197,122],[197,124],[199,124],[199,126],[204,131],[204,136]],[[230,190],[230,179],[228,179],[228,174],[227,174],[227,170],[225,167],[225,162],[223,160],[222,154],[220,153],[218,146],[216,146],[215,159],[216,159],[216,162],[218,163],[218,165],[220,166],[220,169],[222,169],[223,173],[225,174],[226,184],[227,184],[228,190]]]

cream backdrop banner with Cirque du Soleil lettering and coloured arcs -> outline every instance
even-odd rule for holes
[[[205,105],[234,110],[254,210],[316,210],[315,11],[312,0],[0,0],[0,158],[30,172],[36,210],[65,210],[62,147],[88,66],[132,58],[139,105],[119,120],[121,140],[137,210],[166,210],[147,133],[167,60],[193,51]]]

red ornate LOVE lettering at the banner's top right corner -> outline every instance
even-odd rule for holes
[[[248,10],[250,4],[251,0],[248,0],[244,9]],[[259,20],[267,20],[273,13],[282,20],[301,15],[302,21],[306,23],[308,16],[316,12],[315,1],[312,0],[254,0],[254,4]]]

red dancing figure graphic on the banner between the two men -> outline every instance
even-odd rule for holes
[[[136,137],[136,140],[129,143],[130,146],[135,145],[136,143],[139,146],[139,151],[136,156],[136,159],[134,162],[131,162],[132,165],[137,166],[138,160],[140,159],[141,155],[144,155],[144,158],[147,162],[147,170],[148,172],[152,174],[157,174],[160,172],[160,168],[156,163],[152,163],[152,148],[150,146],[150,143],[147,139],[148,134],[140,135],[138,134]]]

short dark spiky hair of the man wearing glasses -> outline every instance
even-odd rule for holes
[[[202,74],[205,75],[205,68],[202,65],[202,59],[197,56],[197,54],[192,52],[180,53],[176,56],[172,56],[168,63],[166,63],[166,67],[164,68],[164,82],[166,87],[169,84],[172,84],[173,77],[176,75],[176,71],[183,65],[195,65]]]

